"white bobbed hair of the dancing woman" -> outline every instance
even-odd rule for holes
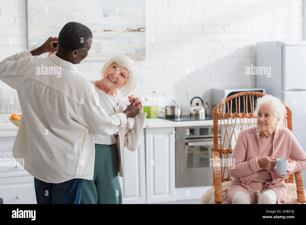
[[[137,76],[137,67],[134,63],[134,61],[126,56],[126,55],[118,55],[111,57],[108,61],[105,62],[102,68],[102,76],[104,75],[106,69],[112,65],[113,63],[118,64],[121,67],[127,68],[129,71],[129,78],[126,81],[125,86],[118,87],[118,91],[120,91],[120,94],[122,97],[127,96],[128,94],[132,93],[132,91],[135,89],[138,81]]]

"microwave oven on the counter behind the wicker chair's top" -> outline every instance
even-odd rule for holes
[[[224,99],[230,97],[233,94],[237,94],[244,91],[257,91],[261,93],[266,93],[265,88],[245,88],[245,89],[211,89],[211,105],[212,109],[214,109],[217,105],[220,104]],[[249,100],[249,99],[248,99]],[[254,104],[256,103],[257,97],[254,95]],[[238,98],[237,98],[238,103]],[[254,105],[255,106],[255,105]],[[240,96],[240,109],[243,109],[243,96]],[[248,101],[248,109],[250,107],[250,101]],[[227,107],[225,107],[225,113],[228,113]],[[236,112],[236,105],[232,105],[232,113]]]

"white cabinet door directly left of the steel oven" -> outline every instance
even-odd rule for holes
[[[175,128],[146,128],[147,203],[175,201]]]

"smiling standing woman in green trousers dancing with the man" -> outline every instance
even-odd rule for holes
[[[119,98],[116,90],[125,97],[137,84],[136,66],[127,56],[110,58],[102,68],[101,80],[90,81],[99,95],[99,102],[108,115],[123,112],[127,101]],[[95,166],[93,180],[83,181],[81,204],[121,204],[122,192],[119,176],[123,177],[122,159],[124,147],[136,151],[140,144],[140,136],[144,120],[143,101],[134,95],[128,96],[129,102],[136,99],[140,104],[140,112],[135,116],[134,123],[128,118],[123,130],[114,135],[100,135],[94,132]]]

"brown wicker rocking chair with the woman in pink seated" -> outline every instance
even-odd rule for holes
[[[251,127],[252,123],[254,123],[254,126],[256,126],[254,102],[257,98],[260,98],[263,95],[266,94],[255,91],[241,92],[226,98],[215,107],[213,110],[214,151],[212,153],[214,165],[220,165],[220,160],[222,160],[222,162],[227,162],[229,159],[229,154],[233,151],[231,143],[236,142],[238,137],[236,133],[236,124],[238,125],[239,132],[243,129],[244,125],[247,126],[246,128]],[[250,108],[249,110],[248,106]],[[241,109],[242,107],[243,109]],[[287,114],[285,117],[284,126],[292,131],[292,110],[286,105],[285,107],[287,109]],[[244,121],[245,119],[246,121]],[[247,122],[247,124],[244,124],[244,122]],[[223,135],[222,128],[224,129]],[[219,139],[220,142],[218,142]],[[289,159],[289,162],[292,162],[292,160]],[[225,177],[225,168],[227,169],[227,177]],[[294,173],[294,175],[297,184],[297,200],[301,204],[304,204],[305,194],[302,173],[297,172]],[[229,175],[229,169],[227,166],[224,166],[223,163],[221,163],[221,166],[214,166],[213,186],[215,186],[215,204],[222,203],[222,182],[231,180],[232,179]],[[285,183],[294,183],[293,174],[289,174],[289,179],[285,179]]]

